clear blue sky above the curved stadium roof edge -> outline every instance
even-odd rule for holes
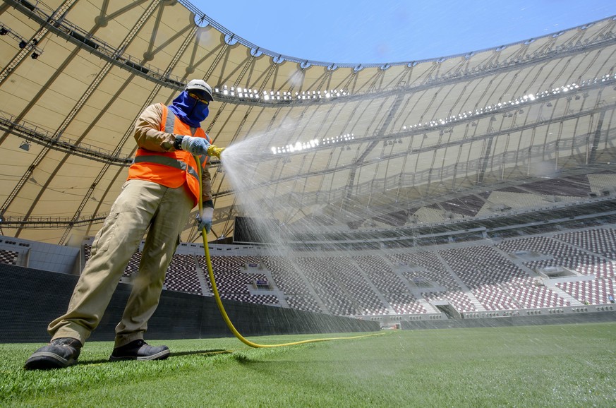
[[[364,64],[498,47],[616,15],[613,0],[190,1],[259,47]]]

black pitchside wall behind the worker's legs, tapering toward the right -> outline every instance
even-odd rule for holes
[[[0,264],[0,342],[47,342],[47,325],[66,312],[76,275]],[[99,327],[90,340],[114,340],[131,285],[119,283]],[[224,301],[236,329],[245,336],[295,335],[380,330],[377,322]],[[150,319],[149,340],[231,337],[215,299],[163,291]]]

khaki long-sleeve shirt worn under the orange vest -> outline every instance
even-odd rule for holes
[[[152,104],[140,114],[135,124],[135,140],[140,148],[152,150],[152,152],[174,152],[176,136],[172,133],[162,132],[162,105]],[[191,135],[195,136],[197,128],[191,127]],[[205,171],[201,174],[201,195],[203,202],[212,200],[212,175],[210,174],[210,161],[205,165]]]

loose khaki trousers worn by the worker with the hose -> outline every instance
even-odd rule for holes
[[[68,311],[49,323],[47,330],[52,339],[73,337],[85,343],[99,324],[128,261],[149,227],[139,272],[122,320],[116,326],[115,347],[143,339],[193,206],[185,186],[168,188],[151,181],[126,181],[95,236],[92,254],[73,290]]]

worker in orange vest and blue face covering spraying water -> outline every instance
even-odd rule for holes
[[[150,346],[143,335],[199,195],[203,198],[203,213],[197,215],[198,229],[207,233],[212,227],[209,158],[220,158],[224,148],[211,144],[201,122],[213,100],[210,85],[204,80],[191,80],[171,105],[152,104],[140,114],[134,133],[139,148],[128,169],[128,179],[92,242],[90,258],[73,290],[68,311],[49,323],[51,342],[32,354],[25,368],[76,364],[146,231],[139,272],[116,326],[109,359],[159,360],[169,356],[167,346]],[[193,155],[200,157],[203,167],[201,185]]]

